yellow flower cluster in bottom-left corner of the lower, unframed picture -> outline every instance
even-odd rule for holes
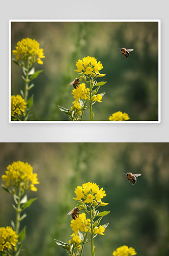
[[[0,227],[0,251],[6,248],[12,250],[12,245],[16,246],[18,236],[12,227]]]

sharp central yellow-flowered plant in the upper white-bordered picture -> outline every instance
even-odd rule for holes
[[[94,120],[94,112],[93,112],[93,104],[97,102],[102,102],[102,97],[105,92],[98,94],[98,90],[101,86],[103,86],[106,82],[97,82],[98,77],[105,76],[104,74],[100,74],[99,71],[103,69],[102,63],[97,61],[94,57],[84,57],[79,59],[76,62],[76,67],[78,72],[78,78],[74,80],[72,95],[75,99],[73,106],[71,109],[65,109],[59,106],[61,111],[64,111],[69,115],[70,119],[73,121],[82,121],[83,113],[85,110],[90,108],[90,120]],[[77,83],[76,81],[84,81],[83,83]],[[88,87],[86,87],[86,84]],[[88,100],[90,101],[90,106],[87,106]],[[78,108],[77,108],[78,106]]]

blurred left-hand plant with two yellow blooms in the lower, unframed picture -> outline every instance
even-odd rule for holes
[[[26,217],[22,214],[37,198],[27,201],[27,192],[29,190],[37,191],[36,184],[39,184],[37,174],[33,173],[33,167],[21,161],[13,162],[8,165],[6,175],[2,176],[6,185],[2,185],[5,191],[13,195],[15,204],[12,204],[16,211],[16,219],[11,221],[12,227],[0,227],[0,251],[3,256],[18,256],[25,238],[25,228],[19,231],[20,222]]]

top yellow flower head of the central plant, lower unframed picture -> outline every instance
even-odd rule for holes
[[[99,189],[99,186],[96,183],[85,183],[81,186],[77,186],[76,190],[74,191],[76,194],[76,200],[85,199],[84,202],[92,203],[93,201],[97,201],[101,203],[101,199],[106,196],[105,191],[103,188]]]

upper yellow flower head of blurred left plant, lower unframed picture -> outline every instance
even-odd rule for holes
[[[22,192],[26,189],[37,191],[34,184],[39,184],[37,174],[33,173],[33,167],[21,161],[13,162],[11,165],[8,165],[6,175],[3,175],[2,178],[6,181],[7,187],[11,185],[19,187],[20,185]],[[29,181],[31,181],[32,184],[29,185]]]

